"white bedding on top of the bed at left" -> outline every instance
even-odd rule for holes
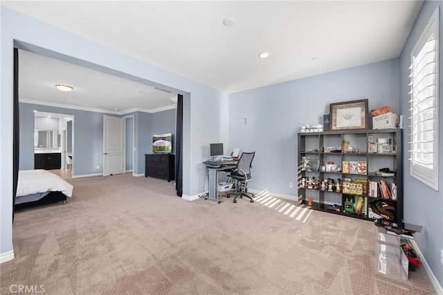
[[[17,197],[44,192],[62,192],[72,197],[73,186],[46,170],[21,170],[17,184]]]

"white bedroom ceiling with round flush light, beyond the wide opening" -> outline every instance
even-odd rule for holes
[[[74,89],[60,91],[55,84]],[[21,102],[124,114],[134,108],[147,112],[171,109],[175,105],[171,98],[177,94],[19,50],[19,98]]]

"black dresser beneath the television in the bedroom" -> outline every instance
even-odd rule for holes
[[[174,180],[174,154],[145,154],[145,177]]]

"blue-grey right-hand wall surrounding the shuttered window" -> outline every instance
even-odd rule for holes
[[[443,267],[440,264],[440,251],[443,249],[443,11],[442,1],[425,1],[422,10],[419,12],[417,20],[410,32],[408,40],[400,55],[399,71],[400,71],[400,109],[401,114],[404,114],[404,126],[410,125],[408,120],[409,115],[409,66],[410,66],[410,52],[417,42],[419,36],[424,30],[428,20],[440,4],[440,98],[439,98],[439,134],[440,134],[440,159],[438,169],[440,172],[440,191],[435,191],[432,188],[422,184],[421,181],[410,177],[410,163],[408,161],[408,152],[404,154],[404,220],[413,224],[424,226],[422,233],[419,233],[415,241],[419,245],[426,262],[431,267],[433,274],[443,286]],[[408,129],[404,129],[404,150],[409,150],[408,146]]]

